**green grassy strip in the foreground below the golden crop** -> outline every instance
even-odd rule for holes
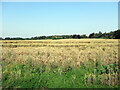
[[[90,67],[49,67],[46,65],[14,64],[3,68],[3,88],[87,88],[116,87],[117,72],[106,73],[106,67],[114,70],[115,66],[97,68],[96,74]],[[49,71],[48,71],[48,68]],[[110,74],[110,76],[109,76]],[[107,84],[107,82],[109,85]],[[116,81],[115,81],[116,80]],[[112,86],[111,86],[112,85]]]

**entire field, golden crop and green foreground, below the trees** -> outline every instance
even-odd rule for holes
[[[2,40],[3,88],[117,88],[118,39]]]

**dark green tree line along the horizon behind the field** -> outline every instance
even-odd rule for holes
[[[31,38],[21,38],[21,37],[6,37],[2,38],[0,37],[0,40],[40,40],[40,39],[81,39],[81,38],[103,38],[103,39],[120,39],[120,29],[116,31],[111,31],[109,33],[91,33],[89,36],[86,34],[79,35],[79,34],[74,34],[74,35],[52,35],[52,36],[36,36],[36,37],[31,37]]]

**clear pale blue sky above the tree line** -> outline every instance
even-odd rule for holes
[[[3,37],[90,34],[118,29],[117,2],[3,2]]]

